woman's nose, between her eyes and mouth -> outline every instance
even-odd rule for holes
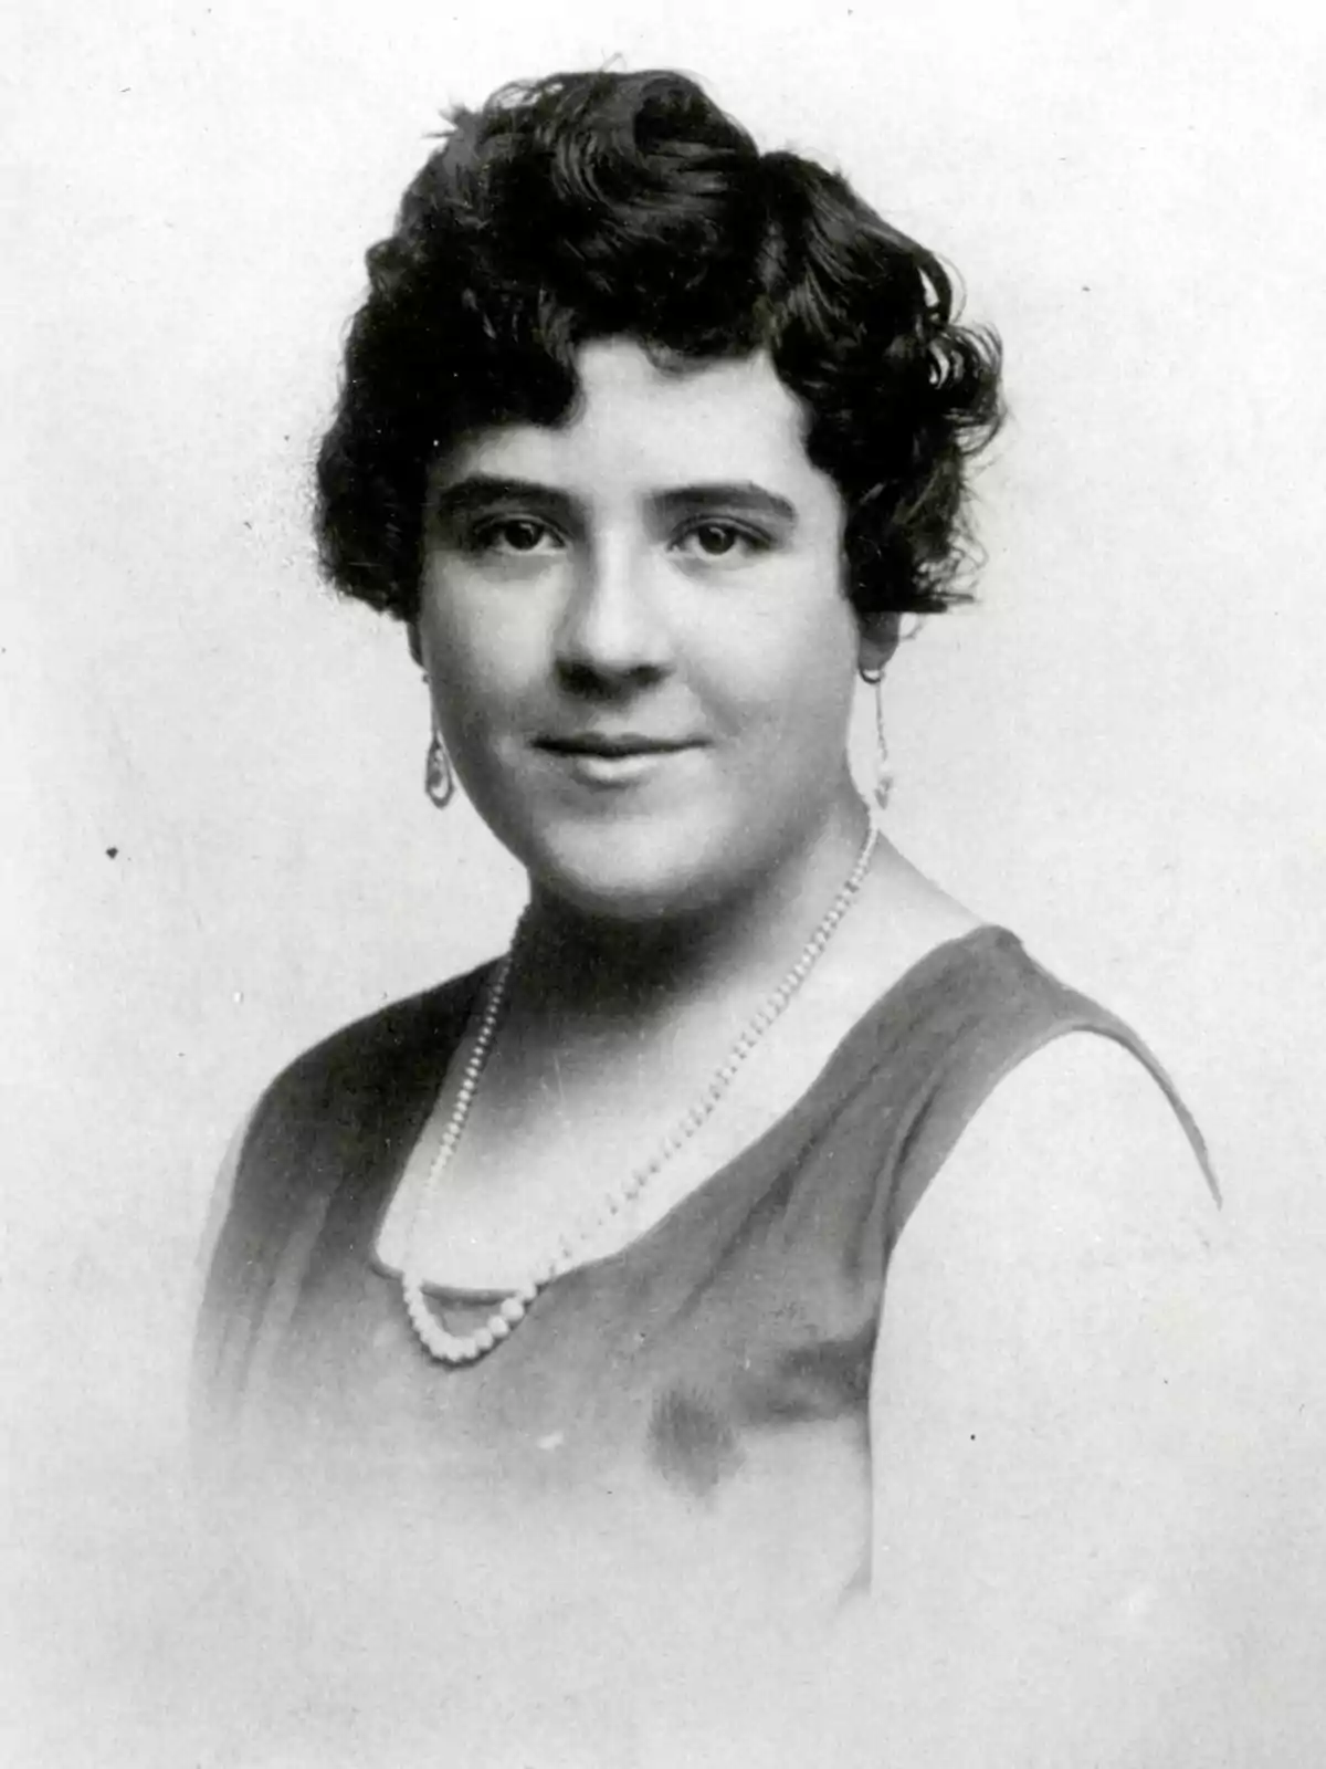
[[[656,681],[672,642],[644,548],[587,548],[568,584],[557,623],[557,672],[580,692],[613,692]]]

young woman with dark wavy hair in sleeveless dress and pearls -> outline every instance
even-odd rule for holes
[[[461,111],[368,262],[322,559],[405,624],[428,791],[530,900],[255,1111],[210,1442],[525,1573],[589,1585],[594,1544],[629,1603],[665,1567],[751,1622],[868,1592],[896,1739],[992,1760],[997,1712],[1008,1760],[1114,1760],[1137,1666],[1181,1682],[1200,1143],[847,764],[857,678],[960,596],[995,340],[663,73]]]

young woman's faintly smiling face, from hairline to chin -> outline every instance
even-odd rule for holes
[[[762,356],[587,345],[560,428],[433,471],[419,646],[456,771],[534,888],[704,909],[856,803],[842,501]]]

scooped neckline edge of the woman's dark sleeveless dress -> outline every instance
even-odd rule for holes
[[[875,1001],[872,1001],[870,1007],[852,1021],[826,1056],[815,1077],[790,1102],[790,1106],[773,1120],[773,1123],[746,1143],[744,1148],[739,1148],[735,1155],[720,1162],[713,1173],[707,1173],[654,1222],[640,1229],[638,1235],[633,1235],[628,1242],[621,1247],[613,1247],[610,1252],[596,1254],[568,1267],[560,1277],[545,1286],[543,1293],[552,1295],[560,1284],[578,1279],[582,1274],[603,1272],[640,1252],[647,1252],[659,1238],[675,1233],[679,1224],[688,1221],[691,1215],[713,1210],[713,1201],[718,1194],[737,1191],[748,1169],[766,1168],[769,1175],[774,1175],[778,1171],[778,1160],[774,1159],[778,1146],[801,1137],[810,1125],[817,1123],[836,1106],[843,1091],[852,1088],[857,1068],[870,1058],[880,1022],[891,1019],[903,1001],[925,989],[949,966],[960,962],[969,953],[985,950],[987,946],[994,948],[997,945],[1011,945],[1018,950],[1022,948],[1017,934],[1010,932],[1006,927],[999,927],[994,922],[981,922],[965,934],[955,934],[949,939],[941,939],[923,952],[919,959],[914,959],[909,966],[905,966],[905,969],[895,976],[895,980],[875,998]],[[392,1162],[391,1171],[385,1175],[384,1196],[373,1212],[370,1263],[380,1277],[392,1283],[400,1283],[400,1268],[387,1265],[378,1254],[387,1212],[419,1160],[419,1143],[437,1109],[438,1095],[446,1086],[446,1076],[451,1070],[456,1049],[465,1038],[474,1003],[492,976],[497,962],[499,961],[493,959],[481,964],[477,969],[470,971],[469,976],[461,978],[461,984],[467,984],[469,987],[465,989],[463,999],[456,1007],[456,1019],[453,1021],[456,1026],[456,1037],[446,1053],[444,1077],[430,1095],[424,1113],[415,1123],[414,1134],[405,1139],[401,1159]],[[447,985],[444,984],[442,987],[446,989]],[[502,1288],[447,1284],[433,1279],[426,1279],[423,1290],[428,1297],[442,1302],[444,1306],[449,1304],[456,1307],[469,1307],[470,1304],[488,1306],[507,1293]]]

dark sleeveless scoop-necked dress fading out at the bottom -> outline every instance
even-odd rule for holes
[[[1151,1070],[1206,1166],[1139,1038],[978,929],[895,984],[803,1099],[652,1229],[557,1279],[490,1357],[435,1366],[373,1249],[484,975],[338,1031],[260,1102],[196,1344],[223,1467],[373,1504],[408,1486],[451,1514],[469,1495],[523,1528],[585,1491],[599,1516],[739,1514],[790,1569],[813,1541],[847,1589],[870,1557],[889,1256],[999,1079],[1063,1033],[1101,1033]],[[492,1300],[433,1291],[456,1330]]]

